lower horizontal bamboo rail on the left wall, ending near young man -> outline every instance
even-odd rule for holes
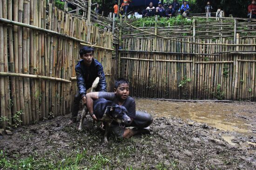
[[[0,76],[13,76],[13,77],[26,77],[26,78],[32,78],[32,79],[44,79],[44,80],[51,80],[55,82],[67,82],[71,83],[69,80],[65,80],[62,78],[56,78],[56,77],[48,77],[48,76],[40,76],[40,75],[28,75],[28,74],[20,74],[20,73],[6,73],[6,72],[0,72]]]

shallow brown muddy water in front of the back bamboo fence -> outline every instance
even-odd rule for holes
[[[206,123],[225,132],[256,136],[256,102],[177,102],[136,98],[136,109],[154,117],[179,117],[188,122]],[[222,135],[230,145],[234,137]]]

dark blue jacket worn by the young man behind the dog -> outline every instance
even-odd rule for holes
[[[100,81],[96,91],[107,91],[107,83],[103,67],[100,62],[93,58],[90,67],[86,67],[83,60],[80,60],[75,66],[78,92],[81,98],[86,95],[86,90],[92,87],[96,77],[100,77]]]

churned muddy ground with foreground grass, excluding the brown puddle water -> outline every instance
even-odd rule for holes
[[[256,122],[256,103],[230,105],[254,108],[230,114],[250,124]],[[223,105],[226,105],[223,103]],[[246,107],[246,106],[245,106]],[[247,108],[248,108],[247,107]],[[239,109],[238,109],[239,110]],[[152,111],[154,113],[156,111]],[[243,113],[243,114],[242,114]],[[219,130],[206,123],[174,116],[154,116],[151,134],[131,139],[110,137],[102,145],[103,133],[84,121],[67,126],[67,116],[45,120],[38,125],[14,130],[0,136],[0,166],[3,169],[113,169],[113,170],[255,170],[256,136],[250,133]],[[228,143],[223,136],[232,136]],[[234,144],[234,145],[233,145]],[[247,145],[245,145],[247,144]]]

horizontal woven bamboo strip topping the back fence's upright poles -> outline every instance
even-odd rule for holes
[[[240,33],[241,38],[254,38],[256,37],[256,20],[248,22],[244,19],[232,19],[232,18],[222,18],[216,20],[214,18],[203,19],[201,20],[194,17],[191,20],[195,19],[195,25],[178,25],[178,26],[167,26],[162,27],[158,26],[158,35],[167,37],[167,38],[186,38],[193,36],[193,30],[196,31],[196,38],[234,38],[236,33]],[[143,31],[150,33],[155,32],[154,27],[139,27]],[[148,35],[145,32],[137,31],[134,28],[126,27],[123,28],[123,31],[132,32],[124,33],[123,38],[153,38],[154,36]]]

